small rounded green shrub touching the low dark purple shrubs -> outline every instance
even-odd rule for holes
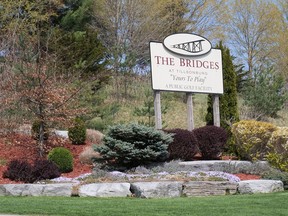
[[[62,173],[73,170],[73,155],[66,148],[56,147],[52,149],[48,154],[48,160],[53,161]]]

